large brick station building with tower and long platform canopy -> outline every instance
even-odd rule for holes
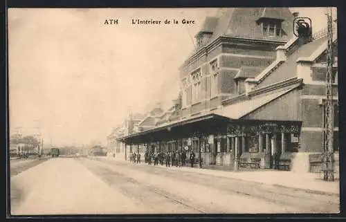
[[[116,140],[148,151],[194,150],[203,165],[232,166],[239,157],[241,165],[311,171],[309,155],[321,153],[324,140],[327,35],[295,37],[293,19],[288,8],[227,8],[206,17],[197,48],[179,67],[172,108],[154,127]]]

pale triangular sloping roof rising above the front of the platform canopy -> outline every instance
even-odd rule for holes
[[[264,106],[268,102],[271,102],[277,98],[280,98],[280,96],[289,93],[289,91],[295,89],[298,85],[299,84],[295,84],[288,89],[271,93],[264,93],[264,95],[258,96],[253,99],[242,100],[241,102],[230,104],[217,110],[215,114],[237,120],[239,118],[242,118],[244,115],[247,115],[248,113],[251,113],[252,111],[255,111],[256,109]]]

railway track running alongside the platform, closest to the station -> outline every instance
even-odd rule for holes
[[[98,160],[101,162],[112,163],[111,160]],[[337,196],[325,194],[311,194],[301,190],[289,187],[277,187],[273,185],[265,185],[250,181],[240,181],[235,178],[226,178],[221,176],[210,176],[206,174],[198,174],[191,172],[183,172],[179,170],[165,169],[162,167],[150,167],[147,165],[127,165],[126,163],[116,163],[122,167],[144,171],[157,176],[165,176],[168,178],[176,178],[190,183],[199,183],[206,187],[213,187],[225,192],[231,192],[243,196],[252,196],[270,203],[297,207],[297,212],[320,212],[330,213],[339,210],[340,199]],[[215,183],[215,181],[221,183]]]

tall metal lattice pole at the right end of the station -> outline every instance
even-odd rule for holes
[[[333,21],[331,8],[327,9],[327,73],[326,73],[326,101],[324,140],[322,154],[323,180],[334,181],[334,103],[333,103]]]

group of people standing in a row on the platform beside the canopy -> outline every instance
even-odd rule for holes
[[[140,154],[131,154],[131,161],[133,163],[140,163]],[[152,165],[154,160],[154,165],[166,165],[166,167],[176,166],[181,167],[185,166],[186,163],[186,152],[185,151],[167,151],[167,152],[145,152],[145,163]],[[194,151],[190,152],[189,160],[191,167],[194,167],[196,155]],[[136,161],[137,160],[137,161]]]

